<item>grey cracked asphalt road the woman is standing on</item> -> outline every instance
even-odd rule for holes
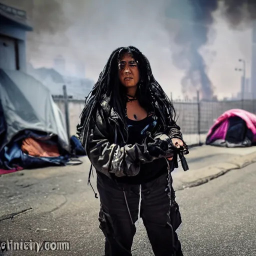
[[[103,255],[99,200],[79,166],[25,170],[0,177],[0,241],[69,241],[70,251],[8,251],[3,255]],[[95,179],[92,181],[95,186]],[[176,191],[185,256],[256,255],[256,164]],[[18,213],[26,210],[23,213]],[[13,214],[13,217],[11,217]],[[139,220],[133,255],[153,255]]]

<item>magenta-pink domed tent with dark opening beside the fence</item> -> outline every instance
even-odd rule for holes
[[[256,144],[256,115],[242,109],[225,111],[209,129],[206,144],[226,147]]]

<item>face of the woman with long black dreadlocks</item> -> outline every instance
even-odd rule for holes
[[[119,79],[125,87],[135,87],[139,81],[138,66],[134,58],[125,53],[118,62]]]

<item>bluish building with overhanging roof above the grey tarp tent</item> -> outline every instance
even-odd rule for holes
[[[26,32],[32,26],[26,11],[0,0],[0,68],[26,71]]]

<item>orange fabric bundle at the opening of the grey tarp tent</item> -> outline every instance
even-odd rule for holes
[[[21,150],[26,154],[36,157],[60,156],[57,145],[50,145],[31,137],[25,138],[22,141]]]

